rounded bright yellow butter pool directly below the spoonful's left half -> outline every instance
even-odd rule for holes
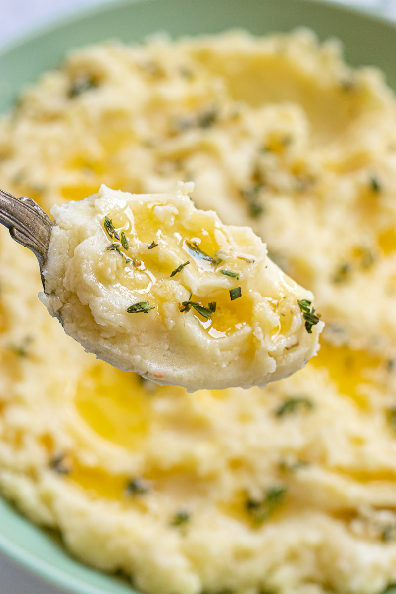
[[[93,431],[129,450],[147,435],[150,396],[137,374],[98,361],[81,376],[75,406]]]

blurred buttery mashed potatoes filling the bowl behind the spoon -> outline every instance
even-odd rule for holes
[[[66,336],[3,230],[1,491],[82,561],[152,594],[396,582],[395,106],[334,41],[231,32],[77,50],[2,122],[1,187],[49,211],[194,181],[326,323],[267,388],[156,386]]]

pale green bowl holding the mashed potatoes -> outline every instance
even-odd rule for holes
[[[0,53],[0,112],[21,89],[69,49],[106,39],[138,41],[154,31],[216,33],[243,27],[255,34],[312,27],[321,39],[336,36],[354,66],[375,65],[396,89],[396,26],[362,12],[315,0],[131,0],[65,18]],[[1,185],[1,184],[0,184]],[[73,560],[59,539],[33,526],[0,500],[0,549],[43,579],[74,594],[133,594],[126,582]],[[1,582],[1,580],[0,580]],[[388,590],[388,594],[396,589]]]

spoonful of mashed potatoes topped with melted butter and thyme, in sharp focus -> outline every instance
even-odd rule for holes
[[[249,227],[195,208],[193,189],[103,185],[55,206],[42,301],[88,352],[160,384],[246,388],[292,374],[318,349],[312,293]]]

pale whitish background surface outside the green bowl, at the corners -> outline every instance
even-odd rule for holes
[[[105,0],[0,0],[0,44],[62,14]],[[281,0],[279,0],[281,2]],[[334,0],[373,8],[396,20],[396,0]],[[64,594],[0,556],[0,594]]]

